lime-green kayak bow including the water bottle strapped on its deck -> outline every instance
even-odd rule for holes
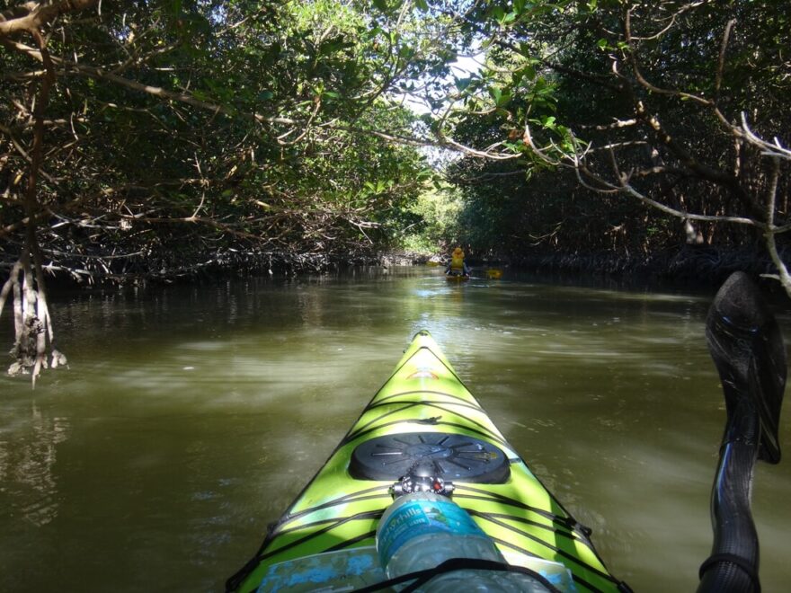
[[[629,591],[590,535],[422,331],[227,590]]]

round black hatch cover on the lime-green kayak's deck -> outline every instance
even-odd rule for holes
[[[508,480],[511,470],[502,450],[479,438],[408,432],[360,444],[351,454],[349,473],[359,480],[399,480],[415,474],[493,484]]]

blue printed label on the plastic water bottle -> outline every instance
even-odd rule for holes
[[[382,566],[408,541],[422,535],[482,535],[473,518],[451,500],[407,500],[379,530],[377,548]]]

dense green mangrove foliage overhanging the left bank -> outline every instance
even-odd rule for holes
[[[232,248],[380,243],[431,174],[413,147],[376,135],[409,130],[411,112],[385,95],[435,66],[422,59],[435,40],[409,34],[330,0],[64,15],[47,44],[57,83],[36,198],[45,253],[75,274],[172,274]],[[5,49],[3,239],[13,243],[26,174],[14,146],[31,145],[40,52],[15,40]]]

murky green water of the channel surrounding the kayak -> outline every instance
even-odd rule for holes
[[[618,577],[692,591],[724,422],[708,305],[431,269],[66,299],[70,370],[0,378],[0,590],[222,590],[425,327]],[[769,592],[788,500],[791,461],[760,465]]]

